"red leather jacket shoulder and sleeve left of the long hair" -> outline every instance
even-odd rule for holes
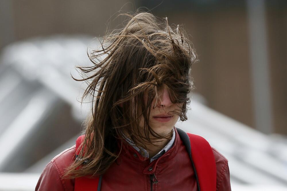
[[[74,190],[74,179],[64,179],[65,168],[75,159],[75,145],[55,156],[42,171],[35,190]]]

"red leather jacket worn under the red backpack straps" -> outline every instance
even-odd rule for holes
[[[230,191],[228,160],[216,149],[212,148],[212,151],[217,170],[216,191]],[[74,179],[60,178],[65,167],[74,159],[75,145],[46,165],[35,190],[74,190]],[[177,132],[173,147],[152,163],[131,146],[125,146],[117,161],[103,175],[101,191],[150,190],[150,176],[145,173],[151,165],[158,180],[158,183],[153,185],[153,190],[197,191],[189,154]]]

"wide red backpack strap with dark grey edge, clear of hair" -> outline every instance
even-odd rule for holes
[[[216,163],[210,144],[203,137],[186,133],[180,128],[177,128],[177,132],[190,153],[198,190],[215,191]]]

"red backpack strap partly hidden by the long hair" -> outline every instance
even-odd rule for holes
[[[85,135],[82,135],[77,138],[76,140],[76,158],[80,157],[79,152],[81,150],[80,145],[82,141],[84,141]],[[102,182],[102,176],[96,177],[96,178],[90,178],[88,176],[83,176],[79,178],[75,178],[75,191],[89,191],[89,190],[95,190],[97,188],[97,191],[100,191],[101,189],[101,182]]]

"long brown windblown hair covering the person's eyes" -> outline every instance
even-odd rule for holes
[[[156,142],[153,139],[167,139],[149,125],[152,100],[158,102],[163,86],[172,103],[183,103],[172,113],[187,120],[188,94],[193,89],[191,65],[197,60],[186,33],[179,25],[172,29],[167,18],[160,20],[151,13],[121,15],[129,18],[125,26],[106,34],[100,40],[101,48],[88,54],[94,65],[77,66],[92,75],[83,79],[72,76],[77,81],[91,81],[82,100],[92,95],[92,114],[84,123],[82,157],[66,169],[69,178],[104,174],[121,152],[123,145],[119,148],[118,143],[123,131],[145,149]],[[148,95],[147,104],[144,95]],[[141,116],[144,133],[139,127]]]

